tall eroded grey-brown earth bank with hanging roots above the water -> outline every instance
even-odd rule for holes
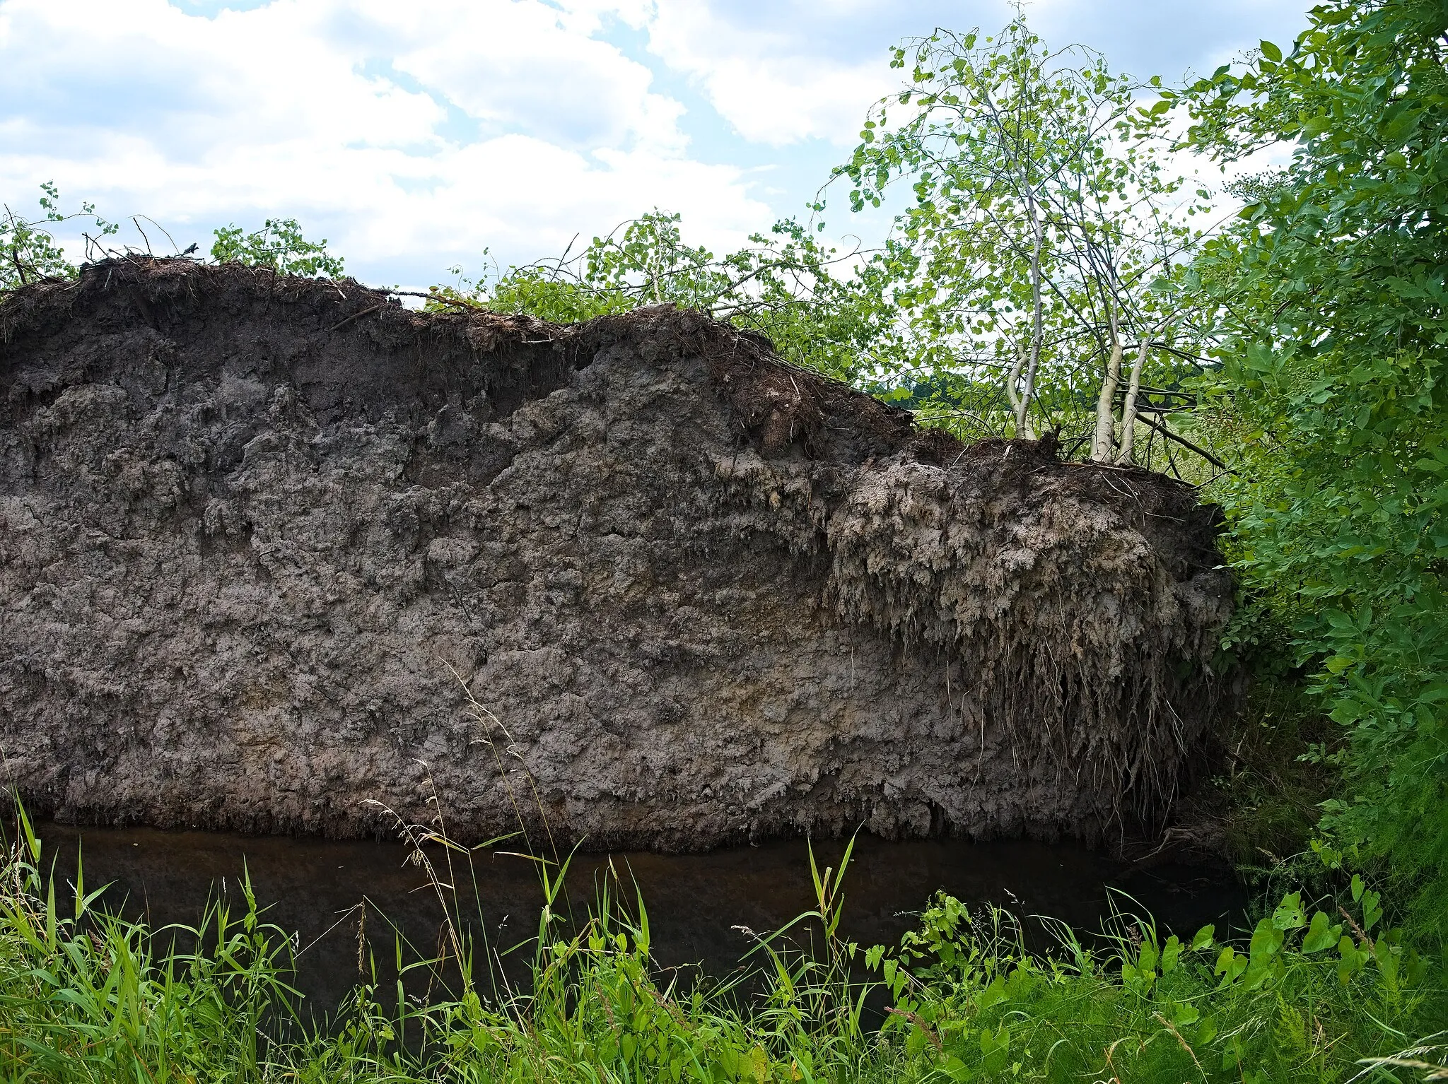
[[[109,262],[0,302],[0,392],[3,766],[67,821],[1090,839],[1222,696],[1187,488],[692,313]]]

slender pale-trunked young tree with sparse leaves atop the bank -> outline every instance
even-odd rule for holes
[[[870,262],[898,307],[893,368],[999,389],[1067,437],[1095,428],[1098,389],[1125,340],[1161,340],[1148,381],[1171,381],[1193,333],[1158,288],[1199,239],[1205,191],[1164,164],[1160,107],[1086,49],[1050,52],[1016,19],[993,38],[937,30],[893,51],[908,87],[875,106],[850,162],[850,206],[912,203]],[[1109,401],[1109,392],[1108,392]],[[980,408],[976,408],[980,414]],[[988,420],[980,418],[982,424]]]

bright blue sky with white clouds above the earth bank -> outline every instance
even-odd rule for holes
[[[1211,72],[1309,0],[1027,0],[1048,45]],[[476,276],[654,207],[725,252],[808,216],[889,46],[999,0],[0,0],[0,201],[127,219],[161,255],[295,217],[378,285]],[[875,240],[844,192],[828,236]],[[148,221],[149,219],[149,221]],[[165,233],[152,226],[164,227]],[[78,256],[78,249],[71,245]],[[487,253],[487,255],[485,255]]]

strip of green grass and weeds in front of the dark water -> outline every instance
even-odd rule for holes
[[[814,948],[762,938],[760,993],[746,997],[663,984],[643,900],[621,906],[617,881],[565,933],[552,903],[565,870],[552,864],[540,864],[549,903],[531,991],[437,997],[429,983],[434,996],[418,1000],[372,983],[314,1028],[288,986],[292,942],[249,886],[243,915],[214,906],[185,932],[200,948],[178,951],[178,931],[106,915],[83,884],[59,915],[23,812],[19,835],[0,870],[6,1081],[1255,1084],[1428,1078],[1448,1042],[1420,1039],[1448,1022],[1441,967],[1381,929],[1381,900],[1360,881],[1341,912],[1287,896],[1234,945],[1211,928],[1163,941],[1122,916],[1103,949],[1060,928],[1054,951],[1030,954],[1011,916],[938,896],[898,948],[862,951],[837,936],[838,877],[812,868],[818,906],[799,922]],[[455,861],[468,854],[424,837]],[[473,954],[458,919],[449,974]],[[397,951],[404,971],[447,964]],[[862,962],[869,983],[853,977]],[[880,1029],[864,1020],[872,986],[891,1006]]]

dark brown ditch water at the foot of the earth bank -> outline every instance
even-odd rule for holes
[[[366,933],[379,961],[391,967],[398,929],[423,955],[442,931],[442,903],[426,871],[407,861],[397,842],[336,842],[149,828],[38,825],[45,864],[74,878],[84,854],[85,887],[110,883],[106,903],[153,926],[195,923],[207,899],[242,906],[239,878],[249,873],[266,919],[297,933],[298,986],[320,1012],[329,1012],[358,973],[356,905],[366,902]],[[838,863],[843,844],[815,844],[821,870]],[[440,851],[432,851],[442,863]],[[649,910],[654,958],[694,975],[721,978],[740,965],[753,944],[738,926],[766,933],[814,906],[807,844],[738,847],[701,855],[617,852],[579,854],[569,870],[568,906],[585,916],[610,863],[633,905],[637,881]],[[479,852],[473,874],[456,870],[459,905],[489,944],[508,948],[537,931],[543,902],[534,863]],[[471,880],[476,877],[478,893]],[[930,896],[944,889],[966,902],[992,902],[1018,915],[1063,919],[1099,929],[1109,892],[1119,909],[1150,910],[1158,925],[1190,935],[1215,922],[1222,929],[1245,906],[1229,870],[1163,864],[1131,868],[1073,844],[999,841],[972,844],[934,839],[885,842],[862,837],[844,880],[846,936],[863,945],[893,944],[914,925]],[[390,925],[391,923],[391,925]],[[527,949],[524,949],[526,954]],[[521,955],[518,957],[521,960]]]

